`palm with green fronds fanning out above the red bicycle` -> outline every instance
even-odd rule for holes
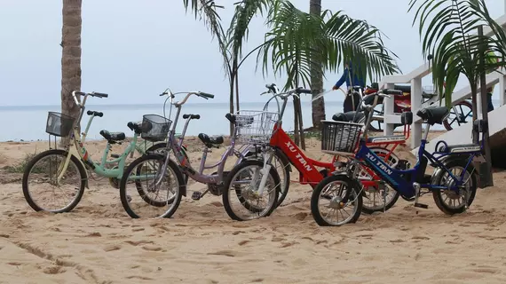
[[[342,12],[307,13],[289,1],[279,0],[271,8],[267,24],[272,29],[265,35],[257,60],[262,62],[264,74],[273,68],[274,74],[289,75],[285,90],[309,84],[312,67],[335,72],[350,59],[356,62],[355,71],[371,81],[399,72],[393,59],[396,55],[384,47],[380,31]],[[297,105],[295,101],[296,113],[300,112]],[[302,119],[298,123],[296,136],[303,132]],[[304,138],[301,140],[304,146]]]

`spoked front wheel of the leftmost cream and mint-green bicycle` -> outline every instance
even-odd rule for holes
[[[69,212],[81,201],[86,185],[86,170],[68,152],[49,150],[37,154],[23,173],[23,194],[28,205],[36,211]]]

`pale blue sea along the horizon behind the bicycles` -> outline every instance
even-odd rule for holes
[[[494,101],[494,106],[499,106],[498,101]],[[312,126],[311,101],[302,101],[302,113],[304,128]],[[263,102],[244,102],[241,103],[241,110],[260,111],[265,107]],[[4,123],[4,128],[0,131],[0,141],[36,141],[48,140],[49,135],[45,132],[47,115],[50,111],[60,112],[60,106],[0,106],[0,122]],[[138,105],[87,105],[86,110],[94,110],[104,113],[103,117],[95,117],[88,132],[87,139],[102,139],[100,130],[111,132],[124,132],[127,137],[133,136],[132,131],[127,127],[128,122],[140,122],[144,114],[160,114],[168,117],[170,106],[165,107],[162,104],[138,104]],[[229,131],[229,122],[225,114],[229,111],[228,103],[186,103],[181,110],[182,114],[200,114],[200,120],[192,120],[186,135],[195,136],[199,133],[208,135],[227,135]],[[271,103],[268,111],[277,111],[277,106]],[[343,111],[342,101],[326,101],[325,111],[327,119],[331,119],[333,114]],[[165,113],[165,114],[164,114]],[[176,109],[172,109],[171,118],[176,114]],[[84,129],[90,116],[83,115],[81,126]],[[180,133],[183,130],[185,121],[179,118],[176,131]],[[294,111],[293,103],[289,102],[283,115],[283,129],[286,131],[294,130]],[[399,128],[400,129],[400,128]],[[398,129],[398,130],[399,130]],[[432,128],[444,129],[437,125]]]

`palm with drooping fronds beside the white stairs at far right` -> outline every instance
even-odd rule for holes
[[[409,10],[418,0],[411,0]],[[431,19],[431,20],[429,20]],[[473,121],[477,119],[476,96],[481,75],[506,63],[506,33],[489,15],[484,0],[424,0],[415,12],[423,37],[423,56],[432,54],[432,81],[451,107],[452,93],[463,74],[470,83],[473,101]],[[492,30],[492,36],[475,34],[480,27]],[[485,60],[487,51],[493,51],[495,60]],[[498,60],[497,60],[498,59]],[[446,87],[445,87],[446,83]],[[485,102],[483,102],[485,103]],[[487,114],[485,112],[485,117]],[[488,183],[493,185],[491,154],[486,133],[486,168]]]

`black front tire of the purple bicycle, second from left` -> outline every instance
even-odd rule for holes
[[[164,156],[161,155],[161,154],[146,154],[146,155],[143,155],[143,156],[140,156],[138,157],[136,160],[134,160],[133,162],[130,162],[130,165],[127,167],[127,169],[125,170],[124,174],[123,174],[123,177],[120,181],[120,200],[122,201],[122,205],[123,205],[123,209],[125,209],[125,211],[127,212],[127,214],[132,217],[132,218],[139,218],[140,216],[138,216],[131,208],[130,208],[130,201],[129,201],[129,198],[128,198],[128,194],[126,192],[126,185],[127,185],[127,182],[128,182],[128,178],[130,177],[130,173],[136,169],[137,165],[141,162],[145,162],[147,160],[154,160],[154,161],[157,161],[157,162],[164,162]],[[179,204],[181,202],[181,198],[182,198],[182,192],[181,192],[181,186],[180,185],[183,185],[183,186],[186,186],[184,185],[184,177],[183,177],[183,174],[181,173],[181,171],[179,170],[178,166],[176,165],[175,162],[172,162],[171,160],[169,161],[168,163],[168,167],[170,167],[170,170],[172,172],[174,172],[176,178],[178,179],[178,192],[176,194],[176,196],[174,197],[174,200],[172,202],[170,202],[170,204],[172,204],[173,202],[176,202],[176,204],[171,207],[168,211],[166,211],[165,213],[162,214],[162,216],[160,217],[165,217],[165,218],[170,218],[172,217],[172,215],[174,215],[174,213],[178,210],[178,207],[179,207]],[[150,205],[154,205],[155,207],[161,207],[159,206],[160,204],[158,203],[155,203],[153,204],[153,202],[156,202],[156,201],[152,201],[150,198],[146,198],[146,193],[144,193],[144,190],[140,190],[139,191],[139,188],[138,188],[138,181],[136,181],[136,188],[137,188],[137,191],[140,195],[140,197],[142,198],[143,201],[146,201],[147,204],[150,204]],[[163,202],[163,205],[162,206],[165,206],[169,204],[168,202]]]

